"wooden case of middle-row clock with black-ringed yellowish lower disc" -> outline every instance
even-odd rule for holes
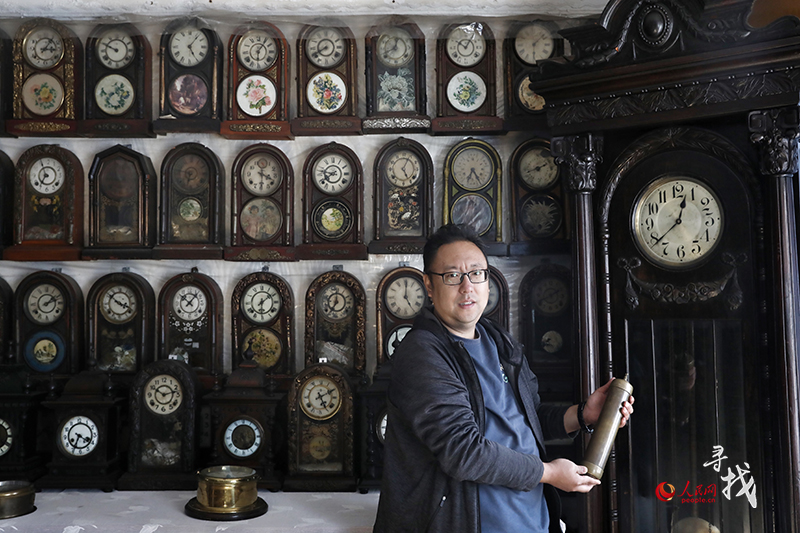
[[[334,153],[350,162],[355,174],[350,185],[332,195],[320,191],[314,184],[314,165],[327,153]],[[314,229],[314,213],[324,202],[336,200],[350,209],[352,223],[349,231],[335,239],[323,238]],[[364,244],[364,172],[358,156],[349,147],[331,142],[315,148],[303,164],[303,244],[297,247],[297,259],[366,259]]]

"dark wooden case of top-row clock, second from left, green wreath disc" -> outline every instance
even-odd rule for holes
[[[97,58],[97,43],[103,33],[119,27],[130,35],[136,48],[133,60],[121,69],[111,69]],[[153,82],[150,42],[133,24],[99,24],[86,39],[85,104],[86,117],[80,133],[85,137],[155,137],[151,125]],[[118,116],[105,113],[95,100],[95,86],[105,76],[125,76],[134,89],[135,102]]]

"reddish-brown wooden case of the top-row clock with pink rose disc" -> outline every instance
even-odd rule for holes
[[[239,61],[236,49],[248,30],[263,30],[275,40],[277,57],[263,71],[252,71]],[[283,32],[268,22],[251,22],[234,30],[228,42],[228,109],[220,133],[228,139],[294,139],[289,125],[289,45]],[[276,89],[275,107],[266,115],[253,117],[243,112],[236,101],[239,83],[252,74],[269,78]]]

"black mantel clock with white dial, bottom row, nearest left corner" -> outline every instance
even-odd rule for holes
[[[70,379],[57,400],[42,402],[52,409],[48,433],[53,455],[42,488],[98,488],[111,492],[122,474],[120,430],[123,409],[110,377],[84,371]]]

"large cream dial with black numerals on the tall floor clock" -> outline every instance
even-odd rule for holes
[[[700,180],[664,177],[648,185],[633,210],[633,234],[659,266],[689,268],[708,257],[725,219],[717,195]]]

